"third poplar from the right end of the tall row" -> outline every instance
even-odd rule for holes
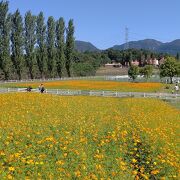
[[[50,77],[55,75],[55,21],[52,16],[47,21],[47,68]]]

